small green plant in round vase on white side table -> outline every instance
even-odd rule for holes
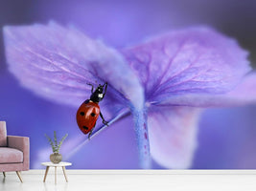
[[[64,141],[65,138],[67,138],[67,134],[62,137],[59,141],[57,139],[57,136],[56,136],[56,131],[54,131],[54,140],[52,140],[52,138],[50,138],[49,136],[47,136],[45,134],[45,137],[48,139],[49,143],[51,144],[52,146],[52,149],[53,149],[53,154],[50,155],[50,160],[53,162],[53,163],[59,163],[62,159],[62,156],[61,154],[59,154],[59,149],[60,149],[60,146],[62,144],[62,142]]]

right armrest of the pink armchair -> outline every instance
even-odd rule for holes
[[[26,170],[29,170],[30,165],[30,138],[7,136],[8,147],[18,149],[23,152],[23,165]]]

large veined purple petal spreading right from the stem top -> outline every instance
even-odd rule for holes
[[[185,94],[221,94],[250,70],[238,43],[209,28],[170,32],[123,51],[149,102]]]

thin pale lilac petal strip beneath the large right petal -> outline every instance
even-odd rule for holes
[[[232,91],[221,95],[187,94],[157,102],[162,106],[234,107],[256,103],[256,73],[247,74]]]

